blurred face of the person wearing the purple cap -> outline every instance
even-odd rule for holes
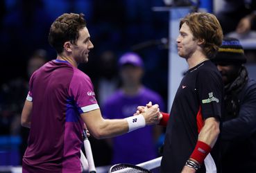
[[[139,66],[126,64],[121,67],[121,79],[123,84],[135,85],[140,84],[143,75],[143,70]]]

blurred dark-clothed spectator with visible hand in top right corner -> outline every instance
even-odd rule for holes
[[[245,35],[256,28],[255,12],[255,0],[223,0],[223,6],[216,12],[216,17],[224,35],[232,31]]]

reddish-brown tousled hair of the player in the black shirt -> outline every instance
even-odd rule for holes
[[[212,59],[223,39],[218,19],[207,12],[193,12],[180,20],[180,28],[184,23],[189,26],[195,39],[202,39],[203,51],[209,59]]]

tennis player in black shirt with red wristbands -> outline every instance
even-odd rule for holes
[[[218,137],[223,82],[210,59],[222,39],[219,21],[210,13],[194,12],[180,21],[178,55],[185,58],[189,70],[180,82],[170,116],[162,113],[160,124],[167,125],[167,131],[161,172],[221,172]]]

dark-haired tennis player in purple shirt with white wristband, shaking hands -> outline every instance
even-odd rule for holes
[[[94,137],[107,138],[159,122],[157,104],[139,116],[102,118],[90,78],[77,69],[94,47],[83,14],[58,17],[49,43],[58,56],[31,76],[22,111],[22,125],[31,129],[22,172],[81,172],[84,123]]]

